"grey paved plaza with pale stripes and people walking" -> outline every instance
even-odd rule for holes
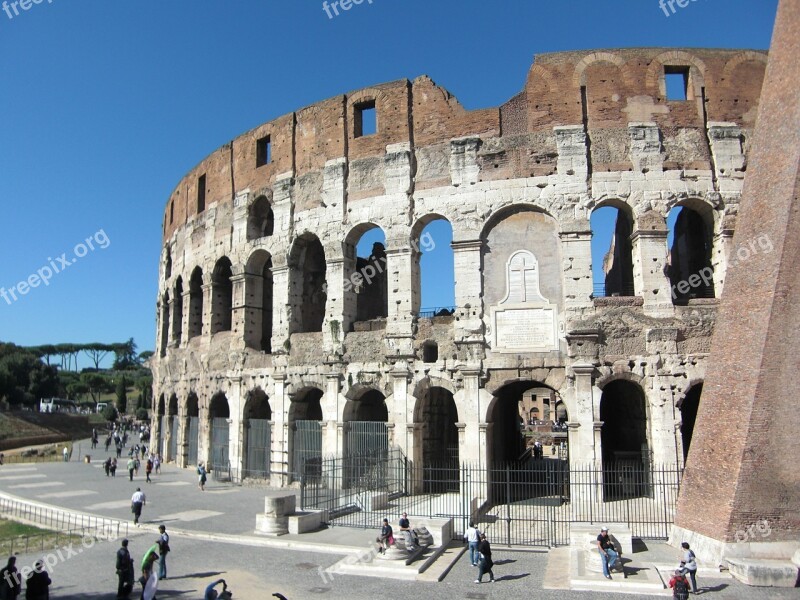
[[[193,470],[170,465],[153,476],[152,484],[145,483],[143,471],[131,483],[126,471],[118,471],[115,478],[106,477],[101,468],[104,458],[103,452],[93,451],[91,464],[78,462],[76,457],[66,464],[6,465],[0,468],[0,491],[31,502],[126,521],[131,553],[137,562],[155,541],[157,526],[165,524],[172,536],[172,552],[168,578],[161,582],[159,598],[200,599],[205,586],[219,578],[229,583],[234,598],[244,600],[269,598],[273,593],[281,593],[289,600],[635,597],[608,591],[543,589],[560,585],[560,575],[567,569],[566,564],[551,560],[552,555],[544,549],[518,551],[495,546],[494,584],[475,585],[475,569],[466,556],[458,553],[455,556],[459,558],[441,583],[435,582],[435,577],[431,582],[408,582],[332,574],[325,569],[344,556],[368,548],[375,532],[334,527],[301,536],[259,537],[253,533],[256,514],[263,510],[266,494],[279,492],[213,480],[201,492]],[[130,515],[130,496],[137,486],[147,495],[140,528],[133,527]],[[77,548],[73,556],[62,552],[64,560],[59,560],[51,573],[51,597],[114,598],[118,546],[116,541],[104,541]],[[661,556],[674,552],[662,544],[651,546],[650,552]],[[634,561],[638,556],[632,557]],[[39,557],[35,553],[19,554],[17,564],[32,565]],[[431,571],[443,569],[432,567]],[[701,585],[709,598],[800,598],[800,590],[747,588],[730,578],[701,578]]]

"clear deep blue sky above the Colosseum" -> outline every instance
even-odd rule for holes
[[[85,250],[47,286],[0,298],[0,340],[134,337],[153,349],[166,200],[260,123],[422,74],[468,109],[496,106],[542,52],[766,48],[776,6],[697,0],[667,17],[658,0],[365,0],[330,19],[321,0],[45,0],[0,11],[0,287]],[[435,292],[423,282],[423,305],[452,303]]]

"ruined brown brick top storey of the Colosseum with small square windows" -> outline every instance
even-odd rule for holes
[[[629,123],[655,122],[664,169],[711,169],[708,123],[733,122],[747,138],[755,123],[766,52],[704,49],[618,49],[544,54],[536,58],[523,91],[500,106],[465,110],[428,77],[400,80],[284,115],[256,127],[204,159],[167,202],[164,239],[198,213],[198,183],[205,175],[205,207],[232,202],[238,191],[266,193],[279,175],[297,182],[296,210],[318,206],[326,162],[345,157],[354,175],[351,201],[384,193],[386,147],[410,143],[423,160],[417,189],[448,185],[449,142],[484,141],[481,180],[555,172],[553,127],[581,125],[590,140],[593,172],[631,169]],[[666,99],[664,73],[685,69],[687,99]],[[357,107],[374,102],[377,133],[356,136]],[[272,160],[257,166],[256,146],[269,136]]]

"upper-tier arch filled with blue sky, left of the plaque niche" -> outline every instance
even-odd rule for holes
[[[452,314],[456,304],[453,227],[440,215],[426,215],[411,230],[412,312],[432,318]]]

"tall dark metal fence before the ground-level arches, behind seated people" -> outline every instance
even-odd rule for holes
[[[458,538],[474,520],[509,546],[567,545],[571,523],[624,523],[635,537],[667,539],[681,475],[678,465],[598,469],[550,458],[416,466],[390,450],[323,460],[303,477],[300,503],[327,511],[331,526],[378,528],[385,516],[408,512],[452,518]]]

